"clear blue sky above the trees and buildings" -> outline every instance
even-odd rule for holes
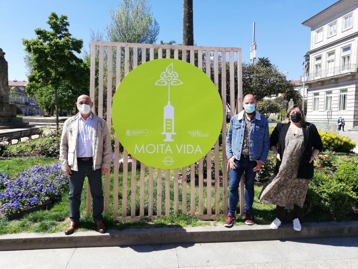
[[[287,78],[302,74],[309,50],[310,29],[301,23],[335,0],[194,0],[194,40],[202,46],[241,47],[243,61],[250,61],[252,23],[256,23],[257,57],[269,57]],[[182,0],[150,0],[158,21],[160,40],[182,43]],[[81,38],[88,50],[90,29],[105,33],[109,9],[118,0],[11,0],[1,1],[0,48],[6,53],[9,80],[26,79],[21,39],[34,38],[35,28],[48,28],[51,11],[68,16],[70,33]]]

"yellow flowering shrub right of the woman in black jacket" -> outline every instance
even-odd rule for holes
[[[318,130],[318,133],[322,139],[323,150],[349,153],[357,145],[352,139],[333,132],[323,132]]]

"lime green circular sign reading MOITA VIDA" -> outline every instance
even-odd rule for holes
[[[112,121],[118,140],[134,158],[176,169],[211,150],[222,127],[223,107],[203,71],[184,61],[156,59],[121,81]]]

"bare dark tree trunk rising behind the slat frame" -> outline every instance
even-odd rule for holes
[[[194,45],[193,0],[183,0],[183,45]],[[190,62],[190,51],[187,52],[187,62]]]

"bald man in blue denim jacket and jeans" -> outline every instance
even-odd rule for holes
[[[256,172],[266,161],[270,149],[269,123],[255,110],[255,96],[243,99],[244,110],[232,117],[226,137],[226,155],[230,164],[229,212],[224,226],[234,224],[239,200],[238,187],[245,171],[245,217],[246,224],[253,224],[252,204],[255,195],[253,183]]]

